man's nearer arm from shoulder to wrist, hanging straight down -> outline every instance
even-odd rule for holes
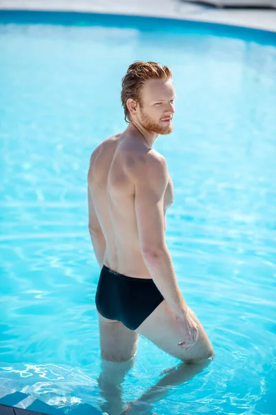
[[[164,235],[164,193],[168,184],[166,160],[155,153],[135,158],[128,173],[135,183],[135,212],[141,252],[155,285],[175,315],[186,314]]]

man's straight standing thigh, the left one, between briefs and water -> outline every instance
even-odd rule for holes
[[[123,323],[108,320],[98,313],[101,357],[111,362],[126,362],[135,356],[138,333],[128,329]]]

